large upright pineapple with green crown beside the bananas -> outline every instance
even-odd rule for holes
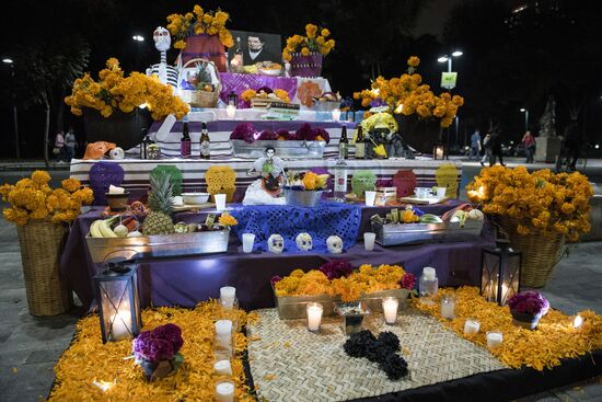
[[[170,234],[174,233],[172,221],[173,195],[172,183],[167,172],[150,175],[151,193],[149,195],[150,214],[144,219],[142,233]]]

